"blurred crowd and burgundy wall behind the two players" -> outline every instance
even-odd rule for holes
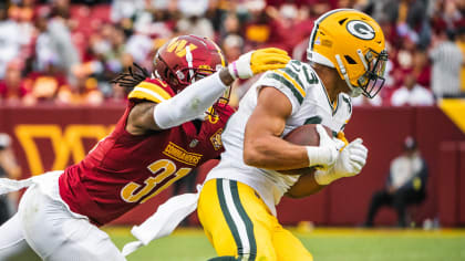
[[[371,14],[388,40],[385,87],[374,100],[355,98],[347,126],[350,139],[363,137],[370,158],[355,178],[307,199],[285,199],[279,219],[310,227],[366,225],[372,196],[386,186],[391,163],[411,136],[428,175],[420,185],[424,197],[407,202],[406,227],[464,226],[464,0],[1,1],[0,132],[10,138],[3,161],[13,163],[3,176],[29,177],[82,159],[124,111],[126,93],[108,81],[133,62],[152,69],[168,39],[208,36],[229,61],[264,46],[306,61],[313,20],[335,8]],[[234,106],[252,81],[235,83]],[[214,165],[200,167],[196,181]],[[115,223],[141,222],[172,194]],[[374,226],[399,225],[391,205],[375,215]],[[194,215],[187,225],[196,223]]]

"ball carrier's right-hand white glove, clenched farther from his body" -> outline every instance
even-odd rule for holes
[[[334,166],[324,171],[317,170],[314,178],[320,185],[328,185],[342,177],[352,177],[362,170],[368,157],[368,148],[363,146],[363,140],[356,138],[343,148],[335,160]]]

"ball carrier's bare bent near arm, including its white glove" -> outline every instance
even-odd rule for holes
[[[247,165],[275,170],[332,166],[338,150],[321,126],[318,128],[320,147],[294,145],[280,137],[291,112],[291,103],[283,93],[269,86],[260,90],[246,125],[244,161]]]

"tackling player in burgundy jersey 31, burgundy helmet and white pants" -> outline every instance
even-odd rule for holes
[[[126,111],[81,163],[0,180],[0,194],[30,186],[18,213],[0,227],[0,260],[28,249],[43,260],[125,260],[97,227],[218,157],[232,114],[220,98],[228,86],[289,60],[281,50],[262,49],[226,66],[214,42],[183,35],[157,52],[152,77],[138,66],[120,75],[114,82],[132,90]]]

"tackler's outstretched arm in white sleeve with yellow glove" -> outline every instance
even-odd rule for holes
[[[202,79],[159,104],[137,104],[131,112],[126,129],[144,134],[147,129],[168,129],[189,122],[207,111],[236,79],[249,79],[267,70],[285,67],[290,61],[279,49],[260,49],[242,54],[228,67]]]

